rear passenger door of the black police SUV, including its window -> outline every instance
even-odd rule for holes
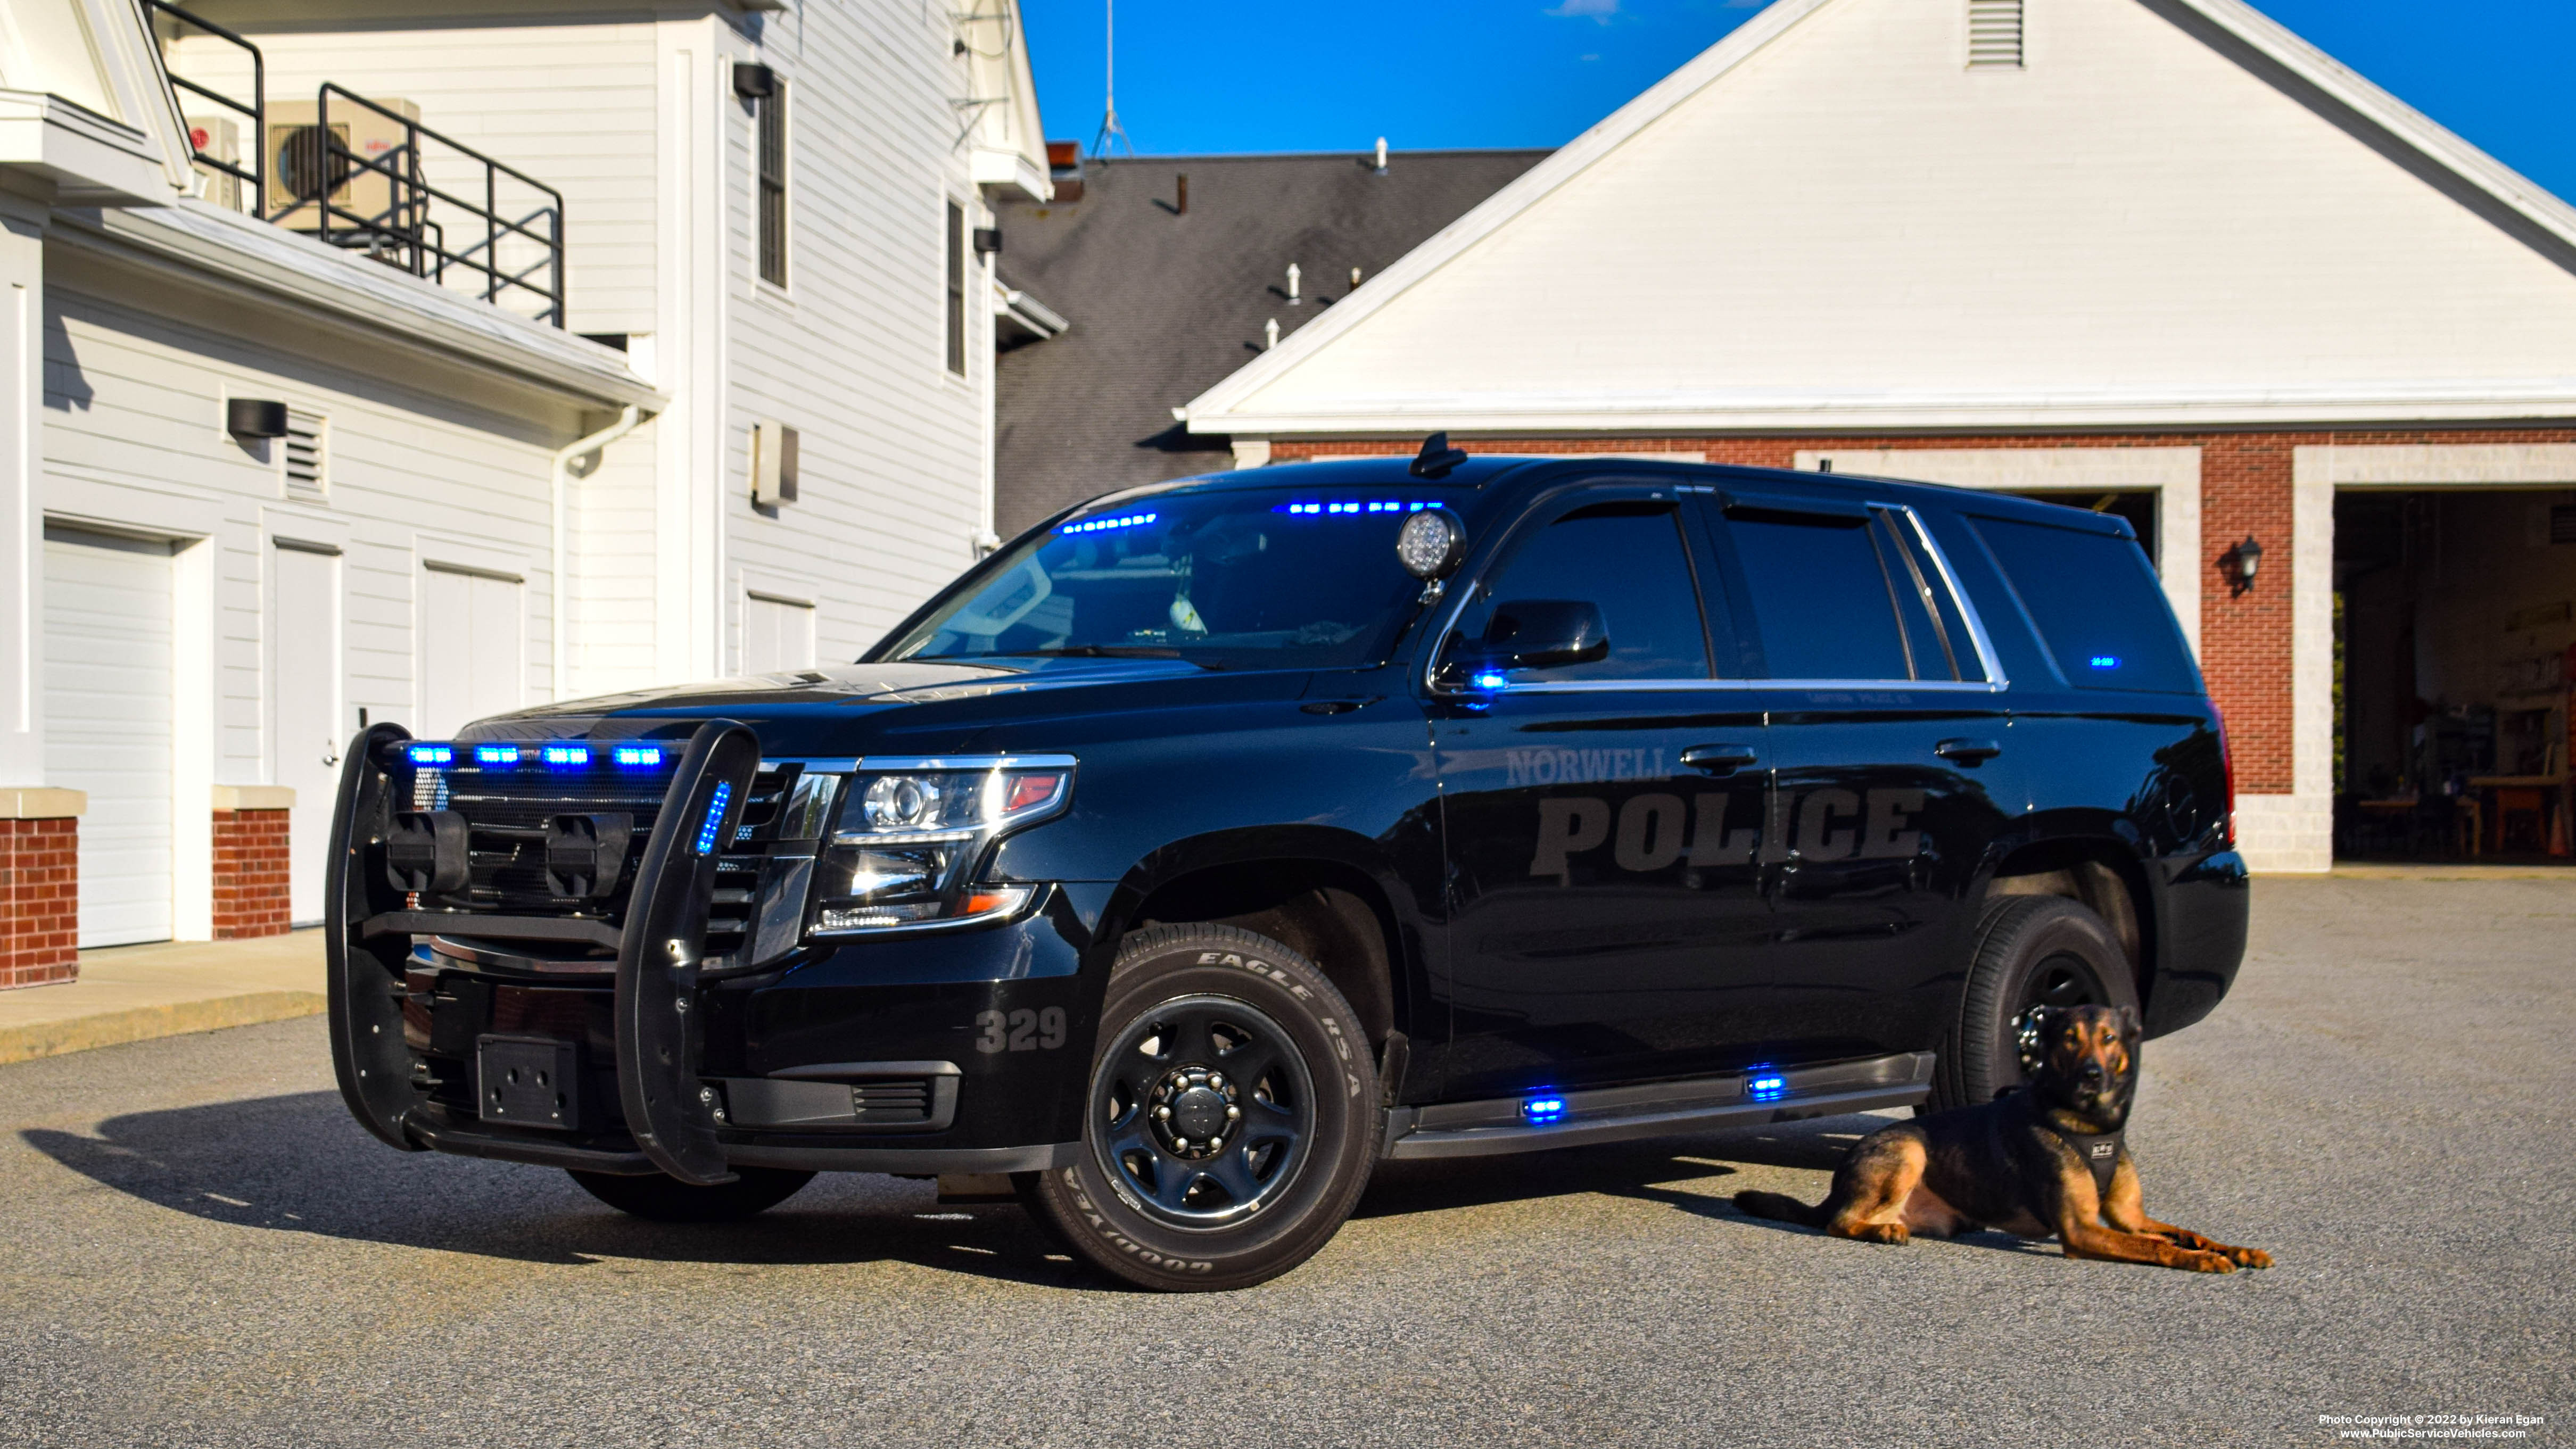
[[[1932,1048],[1963,901],[2020,811],[1996,669],[1909,510],[1721,502],[1713,538],[1767,677],[1780,1060]]]

